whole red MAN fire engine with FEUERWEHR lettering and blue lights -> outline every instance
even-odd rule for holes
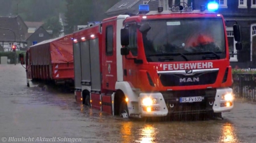
[[[179,4],[119,15],[74,33],[75,98],[123,118],[212,113],[233,108],[231,66],[215,4]],[[240,26],[233,25],[237,50]]]

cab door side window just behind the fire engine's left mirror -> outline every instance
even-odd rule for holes
[[[134,56],[138,55],[137,27],[135,24],[129,27],[129,45],[127,46]]]

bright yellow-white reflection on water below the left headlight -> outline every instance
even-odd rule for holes
[[[141,138],[139,142],[153,142],[156,133],[156,128],[154,128],[152,125],[145,125],[141,130]]]

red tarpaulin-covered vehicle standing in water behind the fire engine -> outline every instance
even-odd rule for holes
[[[73,34],[42,41],[30,46],[19,55],[21,64],[26,64],[27,86],[31,84],[62,84],[73,87],[74,60]],[[46,86],[45,86],[46,87]]]

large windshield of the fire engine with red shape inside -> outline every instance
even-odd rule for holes
[[[148,62],[198,61],[225,58],[222,19],[152,20],[143,34]],[[200,56],[198,56],[200,55]],[[167,57],[166,57],[167,56]]]

